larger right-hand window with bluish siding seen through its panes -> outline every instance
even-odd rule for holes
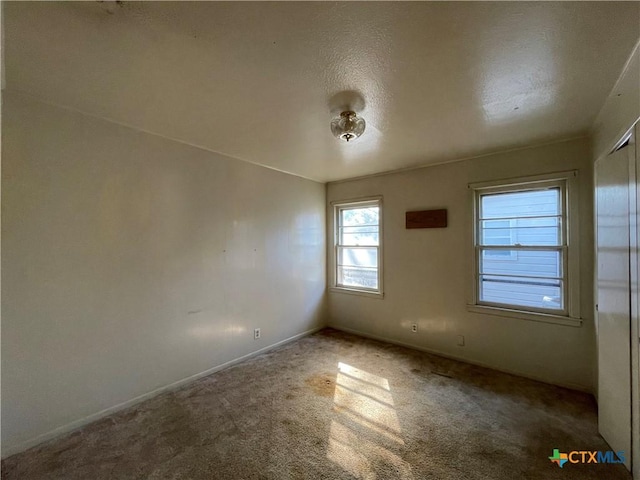
[[[577,314],[577,213],[569,215],[574,177],[568,172],[471,185],[475,305]]]

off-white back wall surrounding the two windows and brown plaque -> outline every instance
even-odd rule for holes
[[[468,311],[473,261],[467,184],[571,169],[579,170],[583,325],[556,325]],[[581,139],[330,183],[327,202],[383,196],[385,290],[383,299],[330,291],[330,325],[591,391],[592,176],[589,144]],[[448,210],[447,228],[405,229],[406,211],[430,208]],[[330,232],[331,229],[329,221]],[[418,324],[418,333],[411,332],[412,323]],[[464,347],[457,346],[457,335],[465,336]]]

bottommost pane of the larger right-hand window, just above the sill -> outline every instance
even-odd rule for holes
[[[481,275],[480,301],[562,310],[562,281]]]

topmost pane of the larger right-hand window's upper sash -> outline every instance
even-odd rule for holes
[[[481,219],[561,215],[560,189],[481,195],[480,212]]]

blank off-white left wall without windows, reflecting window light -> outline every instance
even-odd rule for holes
[[[324,185],[3,95],[3,455],[323,325]]]

